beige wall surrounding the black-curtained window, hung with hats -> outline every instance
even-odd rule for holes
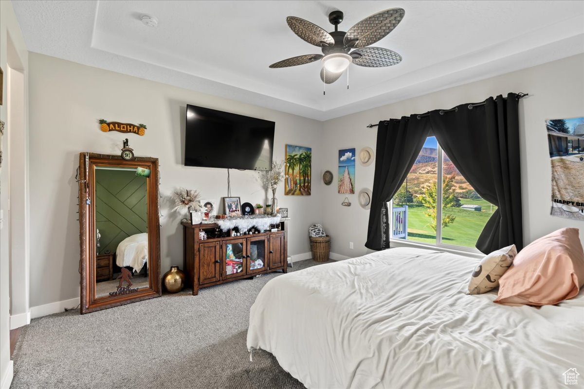
[[[364,146],[376,149],[377,128],[370,123],[424,113],[437,108],[451,108],[466,102],[478,102],[488,96],[508,92],[526,92],[529,97],[520,101],[520,142],[522,163],[524,240],[529,243],[561,227],[577,227],[584,241],[584,225],[575,220],[550,216],[551,168],[548,157],[544,120],[584,115],[584,55],[534,66],[533,68],[457,86],[425,96],[400,101],[388,106],[326,121],[323,138],[324,169],[335,174],[339,149]],[[356,191],[373,185],[374,164],[356,166]],[[333,253],[356,257],[367,252],[367,222],[369,211],[357,204],[357,195],[349,195],[352,206],[340,205],[345,195],[337,193],[334,184],[323,192],[324,227],[331,234]],[[354,249],[349,249],[349,242]]]

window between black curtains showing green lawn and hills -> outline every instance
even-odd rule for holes
[[[468,248],[475,247],[496,209],[465,180],[434,136],[426,139],[392,207],[392,239]]]

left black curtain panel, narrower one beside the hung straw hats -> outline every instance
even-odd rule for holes
[[[390,247],[387,202],[394,197],[412,169],[430,131],[429,117],[404,116],[401,120],[380,121],[377,127],[377,153],[369,227],[365,247]]]

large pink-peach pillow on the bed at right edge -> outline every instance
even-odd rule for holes
[[[584,285],[584,251],[577,228],[562,228],[533,241],[499,279],[495,303],[553,305]]]

